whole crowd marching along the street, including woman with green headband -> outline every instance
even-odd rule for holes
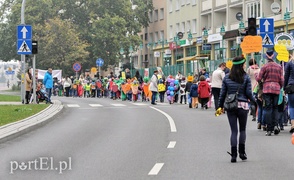
[[[294,57],[289,62],[277,63],[276,53],[268,50],[264,54],[267,62],[259,67],[254,59],[235,57],[232,67],[219,64],[211,75],[203,68],[194,76],[165,75],[160,67],[151,76],[142,77],[139,71],[131,76],[130,70],[116,76],[112,72],[106,77],[91,78],[89,74],[79,77],[67,76],[60,82],[53,81],[52,69],[45,74],[43,84],[51,93],[66,97],[110,98],[122,101],[149,101],[152,105],[168,102],[169,104],[187,104],[189,108],[214,108],[216,115],[226,113],[231,129],[231,162],[236,162],[237,149],[242,160],[245,153],[246,125],[248,113],[252,121],[257,121],[257,129],[266,131],[266,136],[278,135],[284,126],[291,124],[290,133],[294,133]],[[26,100],[29,103],[31,91],[31,72],[26,74]],[[54,82],[54,83],[53,83]],[[39,83],[40,87],[43,86]],[[224,109],[226,97],[237,96],[237,109]],[[239,128],[238,128],[239,126]],[[239,136],[239,137],[238,137]],[[238,146],[238,148],[237,148]]]

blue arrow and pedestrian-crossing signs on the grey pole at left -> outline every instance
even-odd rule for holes
[[[17,54],[32,54],[32,26],[17,26]]]

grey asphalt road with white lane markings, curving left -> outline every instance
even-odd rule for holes
[[[0,179],[293,179],[289,126],[267,137],[249,118],[248,160],[232,164],[226,115],[212,109],[58,99],[54,121],[0,144]]]

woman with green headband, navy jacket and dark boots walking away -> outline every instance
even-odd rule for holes
[[[219,98],[218,107],[224,107],[226,95],[236,94],[238,99],[238,109],[228,111],[227,116],[231,128],[231,162],[237,161],[237,144],[238,144],[238,125],[239,125],[239,157],[242,160],[247,159],[245,153],[246,141],[246,124],[249,112],[248,99],[255,102],[251,91],[251,81],[244,71],[246,59],[244,57],[235,57],[233,66],[228,75],[225,76]],[[253,104],[253,103],[252,103]]]

